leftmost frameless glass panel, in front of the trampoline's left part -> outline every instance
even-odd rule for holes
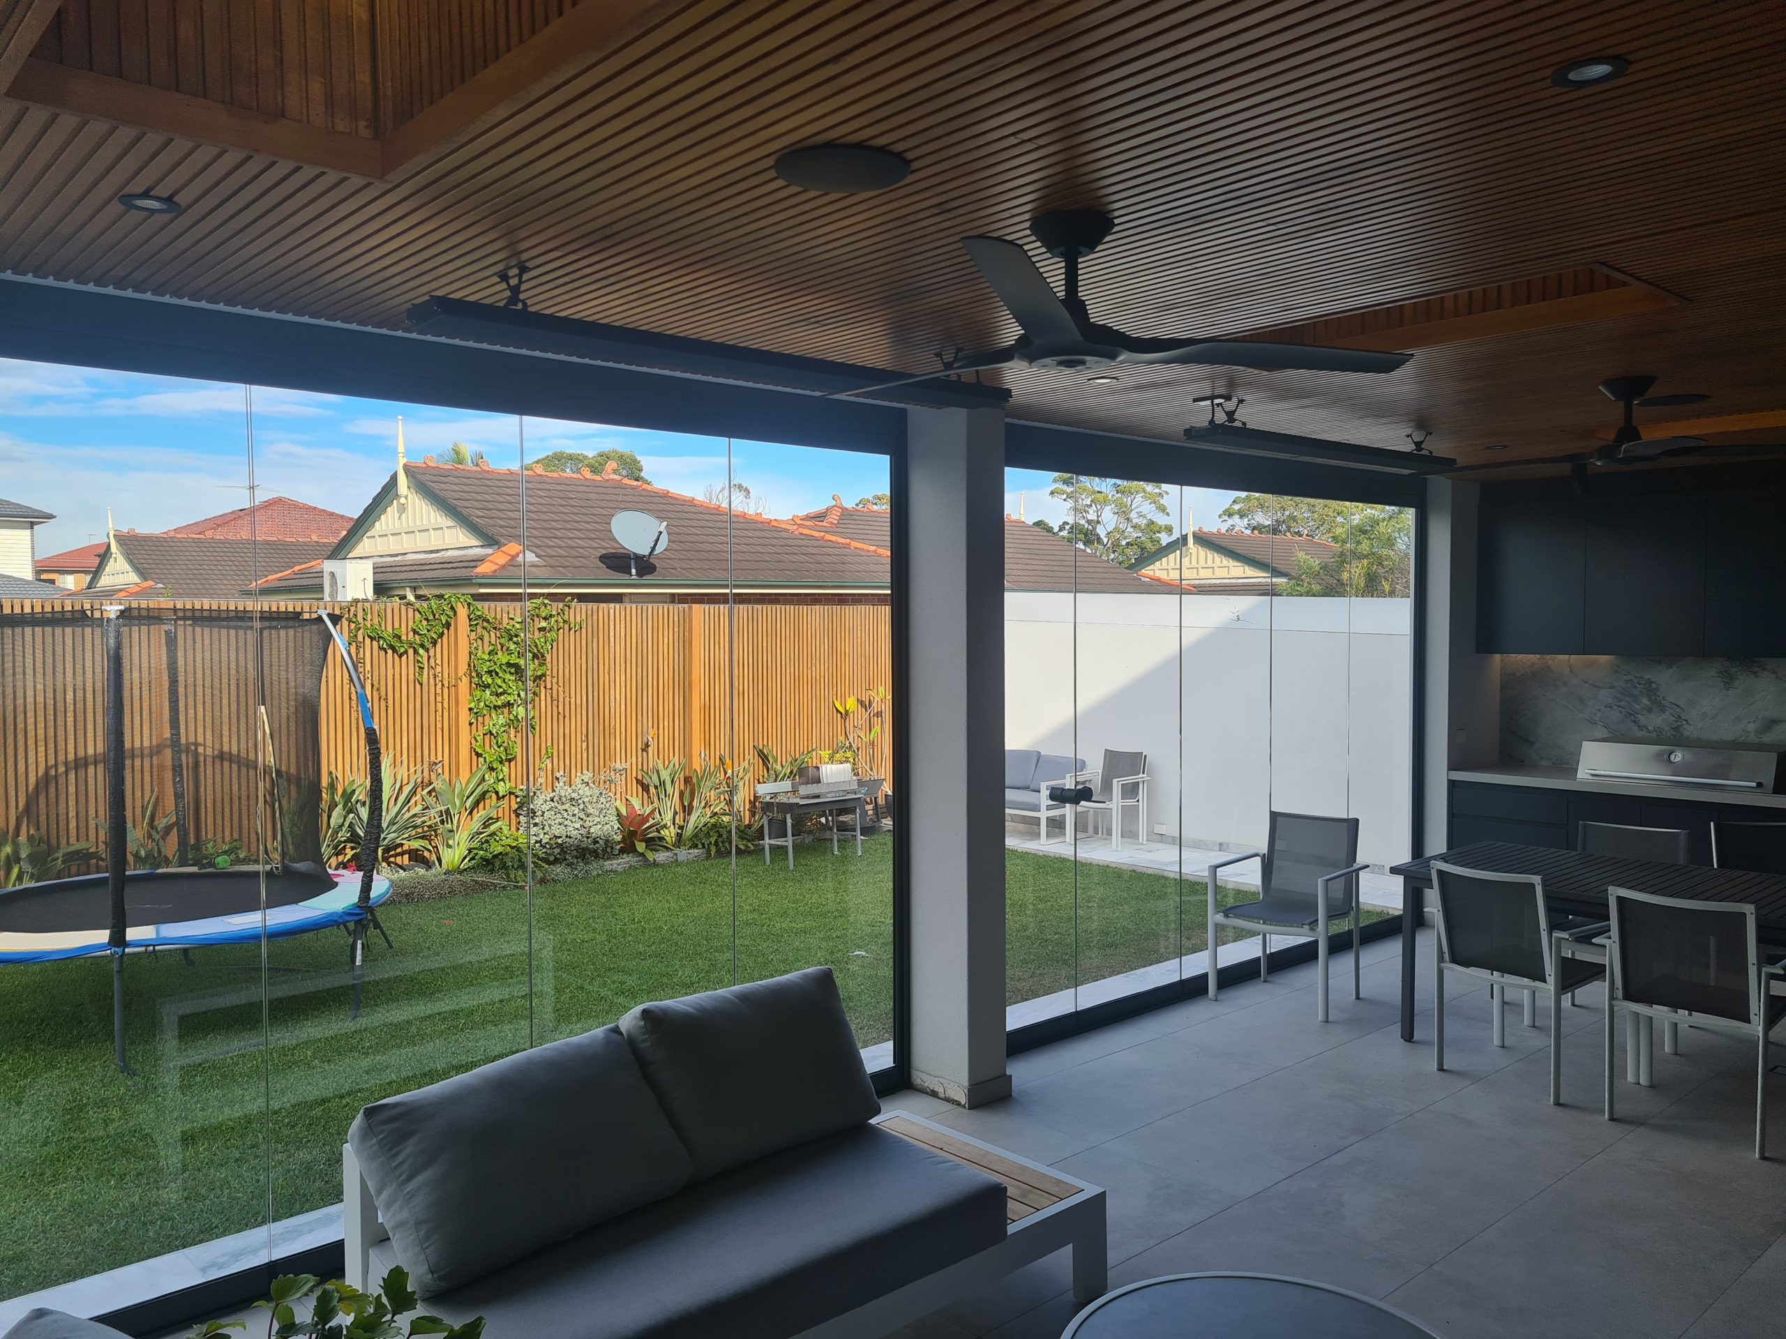
[[[266,1259],[282,793],[243,387],[5,380],[4,491],[29,511],[0,537],[0,1327],[21,1294],[95,1314]],[[302,743],[288,768],[311,769]]]

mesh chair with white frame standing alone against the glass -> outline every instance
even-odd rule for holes
[[[1243,861],[1259,861],[1259,900],[1220,907],[1218,871]],[[1263,852],[1231,855],[1209,866],[1209,998],[1216,982],[1216,927],[1227,925],[1259,936],[1259,980],[1270,980],[1272,936],[1313,939],[1316,955],[1314,1018],[1327,1021],[1327,953],[1334,921],[1352,921],[1352,998],[1359,998],[1359,898],[1357,877],[1370,869],[1357,861],[1357,819],[1272,811]]]

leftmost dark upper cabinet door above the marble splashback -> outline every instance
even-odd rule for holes
[[[1581,500],[1484,489],[1479,539],[1475,648],[1525,655],[1588,650]]]

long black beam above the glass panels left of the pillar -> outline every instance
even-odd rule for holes
[[[329,321],[0,279],[0,357],[888,453],[906,411]]]

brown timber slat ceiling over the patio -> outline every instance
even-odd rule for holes
[[[171,0],[113,0],[146,2]],[[552,43],[564,7],[436,0],[441,21],[409,30],[427,61],[375,89],[380,116]],[[1550,86],[1606,54],[1631,73]],[[1379,446],[1420,427],[1461,459],[1541,457],[1609,423],[1611,375],[1713,395],[1697,416],[1786,407],[1782,61],[1775,0],[664,0],[402,180],[0,102],[0,264],[396,327],[429,295],[498,300],[495,271],[525,259],[536,311],[922,370],[1014,334],[957,237],[1027,243],[1043,209],[1102,207],[1116,232],[1082,293],[1132,334],[1382,327],[1547,279],[1598,305],[1445,332],[1388,377],[1018,371],[1018,416],[1173,437],[1218,387],[1254,427]],[[332,96],[305,86],[304,107]],[[870,196],[772,175],[825,139],[913,173]],[[125,214],[125,189],[186,214]],[[1595,266],[1636,287],[1577,279]]]

